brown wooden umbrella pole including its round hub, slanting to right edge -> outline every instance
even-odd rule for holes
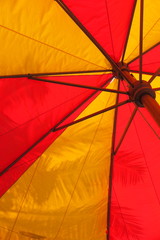
[[[160,105],[155,100],[155,91],[151,85],[146,81],[140,82],[136,80],[129,71],[123,69],[123,67],[122,71],[127,82],[132,84],[132,87],[129,87],[130,98],[135,101],[139,107],[145,107],[160,127]]]

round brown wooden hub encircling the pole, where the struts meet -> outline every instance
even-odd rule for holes
[[[150,95],[154,99],[156,97],[155,91],[146,81],[135,81],[133,83],[133,86],[129,87],[130,99],[134,101],[139,107],[144,107],[141,98],[146,94]]]

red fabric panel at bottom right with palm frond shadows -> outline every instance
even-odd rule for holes
[[[116,143],[132,111],[131,104],[119,108]],[[114,158],[110,240],[160,239],[159,156],[159,138],[137,112]]]

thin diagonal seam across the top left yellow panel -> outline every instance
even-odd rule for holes
[[[37,39],[34,39],[34,38],[32,38],[32,37],[29,37],[29,36],[23,34],[23,33],[20,33],[20,32],[17,32],[17,31],[15,31],[15,30],[13,30],[13,29],[10,29],[10,28],[8,28],[8,27],[6,27],[6,26],[0,25],[0,27],[1,27],[1,28],[4,28],[4,29],[7,30],[7,31],[13,32],[13,33],[15,33],[15,34],[18,34],[18,35],[20,35],[20,36],[22,36],[22,37],[24,37],[24,38],[28,38],[28,39],[30,39],[30,40],[32,40],[32,41],[34,41],[34,42],[36,42],[36,43],[39,43],[39,44],[41,44],[41,45],[44,45],[44,46],[46,46],[46,47],[48,47],[48,48],[52,48],[52,49],[54,49],[54,50],[56,50],[56,51],[62,52],[63,54],[69,55],[69,56],[74,57],[74,58],[76,58],[76,59],[79,59],[79,60],[81,60],[81,61],[83,61],[83,62],[87,62],[87,63],[89,63],[89,64],[91,64],[91,65],[93,65],[93,66],[100,67],[101,69],[105,69],[105,68],[102,67],[102,66],[99,66],[99,65],[97,65],[97,64],[95,64],[95,63],[92,63],[92,62],[87,61],[87,60],[85,60],[85,59],[83,59],[83,58],[80,58],[80,57],[78,57],[78,56],[75,56],[75,55],[73,55],[73,54],[71,54],[71,53],[65,52],[65,51],[63,51],[63,50],[61,50],[61,49],[59,49],[59,48],[56,48],[56,47],[54,47],[54,46],[52,46],[52,45],[49,45],[49,44],[44,43],[44,42],[41,42],[41,41],[39,41],[39,40],[37,40]]]

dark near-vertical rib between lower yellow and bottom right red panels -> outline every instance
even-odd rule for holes
[[[120,89],[120,80],[118,79],[118,90]],[[116,104],[119,101],[119,93],[117,94]],[[117,127],[117,115],[118,108],[115,109],[114,113],[114,124],[113,124],[113,135],[112,135],[112,146],[111,146],[111,159],[110,159],[110,175],[109,175],[109,190],[108,190],[108,212],[107,212],[107,235],[106,239],[110,239],[110,217],[111,217],[111,195],[112,195],[112,177],[113,177],[113,160],[114,160],[114,147],[116,138],[116,127]]]

